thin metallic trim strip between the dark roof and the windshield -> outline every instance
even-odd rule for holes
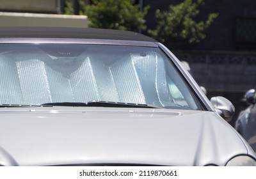
[[[0,38],[0,43],[67,43],[95,45],[128,45],[140,47],[158,47],[156,42],[135,40],[108,40],[93,38]]]

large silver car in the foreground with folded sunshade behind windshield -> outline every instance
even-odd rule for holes
[[[138,33],[0,28],[1,166],[255,166],[163,44]]]

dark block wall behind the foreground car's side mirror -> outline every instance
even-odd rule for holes
[[[240,104],[248,89],[256,88],[255,52],[174,52],[187,61],[191,73],[200,86],[207,89],[207,97],[222,96],[234,104],[236,113],[230,124],[245,107]]]

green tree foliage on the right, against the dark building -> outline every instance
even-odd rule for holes
[[[209,13],[207,20],[196,22],[195,17],[200,12],[198,6],[203,3],[204,0],[184,0],[171,4],[168,11],[156,10],[156,29],[148,30],[148,34],[167,46],[170,43],[177,47],[199,43],[205,38],[204,31],[218,17],[218,13]]]

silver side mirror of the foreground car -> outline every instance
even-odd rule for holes
[[[213,105],[216,112],[226,120],[230,121],[235,113],[234,105],[224,97],[212,97],[211,104]]]

